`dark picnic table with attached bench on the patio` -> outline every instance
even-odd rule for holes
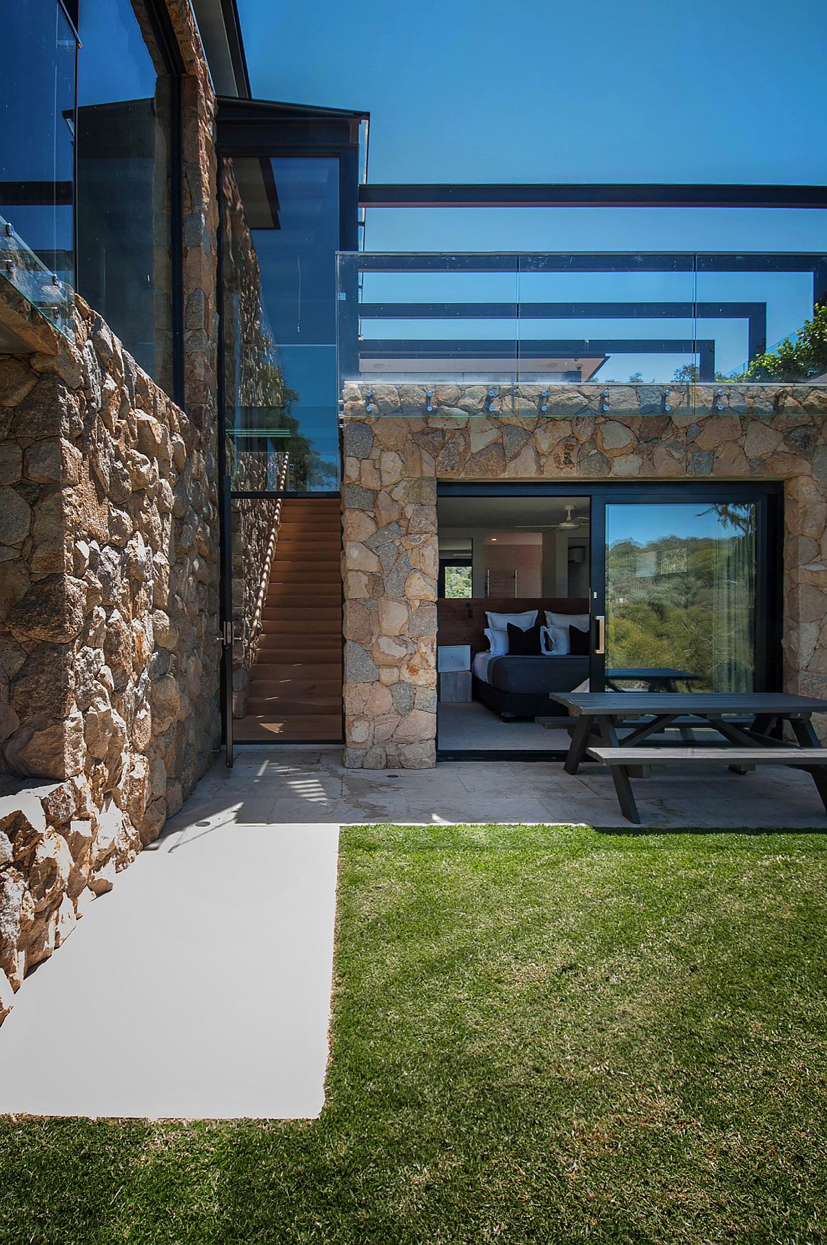
[[[629,782],[629,768],[650,764],[724,762],[744,772],[745,766],[781,764],[806,769],[827,809],[827,748],[812,725],[813,713],[827,713],[827,701],[786,692],[552,692],[577,725],[565,758],[565,772],[575,774],[589,756],[608,766],[624,817],[640,822]],[[628,735],[618,728],[640,718]],[[788,722],[795,743],[777,738],[778,723]],[[702,727],[719,736],[711,745],[641,747],[666,727]],[[775,733],[773,733],[775,732]]]

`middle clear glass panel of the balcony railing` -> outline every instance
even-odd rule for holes
[[[686,410],[691,381],[709,371],[707,354],[695,332],[694,255],[521,255],[521,410]]]

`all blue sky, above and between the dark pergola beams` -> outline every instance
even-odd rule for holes
[[[827,181],[825,0],[238,4],[253,93],[370,111],[371,182]],[[366,229],[367,249],[391,251],[821,251],[826,242],[826,212],[376,209]],[[768,301],[770,345],[795,331],[812,305],[800,274],[705,281],[697,298],[710,300],[749,299],[757,281]],[[559,278],[548,279],[536,296],[635,296],[585,286],[580,279],[563,290]],[[395,296],[406,296],[399,281]],[[679,294],[664,279],[660,296],[691,298],[692,290]],[[569,327],[572,336],[623,329]],[[691,335],[684,327],[673,322],[668,335]],[[499,335],[502,326],[489,329]],[[707,329],[719,366],[741,366],[745,324]],[[440,335],[432,325],[420,331]],[[655,370],[669,377],[681,361],[629,356],[614,371],[621,380],[638,369],[646,378]],[[609,365],[605,375],[614,371]]]

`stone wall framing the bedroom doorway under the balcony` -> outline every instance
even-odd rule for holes
[[[783,481],[785,687],[827,696],[827,391],[727,386],[700,415],[714,391],[684,388],[663,415],[651,388],[624,416],[597,413],[597,386],[560,386],[544,415],[539,386],[435,386],[427,416],[422,386],[345,388],[347,766],[435,763],[438,479]]]

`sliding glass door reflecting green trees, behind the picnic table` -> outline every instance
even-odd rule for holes
[[[778,588],[771,502],[766,491],[739,486],[600,498],[593,690],[767,687]]]

